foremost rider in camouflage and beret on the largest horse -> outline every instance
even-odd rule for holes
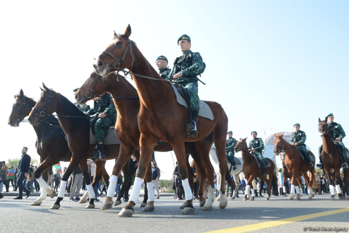
[[[188,35],[179,37],[177,44],[183,52],[183,55],[174,60],[173,68],[168,78],[173,78],[174,83],[184,86],[187,91],[189,108],[193,121],[187,124],[186,131],[188,134],[191,134],[192,138],[197,138],[198,131],[196,129],[196,124],[198,123],[200,100],[198,96],[199,79],[196,76],[200,75],[205,70],[205,63],[203,63],[200,53],[190,50],[192,44]]]

